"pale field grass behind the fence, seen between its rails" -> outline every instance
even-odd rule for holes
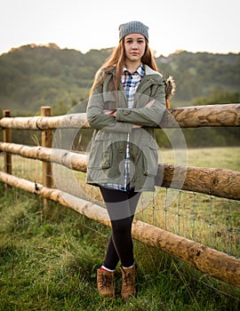
[[[188,165],[239,171],[239,151],[237,147],[188,149]],[[174,155],[170,149],[161,150],[161,158],[165,163],[176,163],[181,155],[180,151]],[[103,204],[96,187],[85,185],[84,173],[68,170],[59,164],[53,167],[56,168],[55,181],[56,176],[60,177],[57,187]],[[41,169],[42,163],[39,161],[12,156],[12,173],[18,177],[42,183]],[[148,197],[144,203],[142,201],[138,219],[240,257],[239,202],[174,189],[166,192],[163,188],[157,188],[154,199]],[[166,204],[168,201],[171,203]]]

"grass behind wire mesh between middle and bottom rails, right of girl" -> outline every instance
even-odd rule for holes
[[[173,192],[178,196],[166,205],[169,193]],[[137,219],[240,257],[239,201],[158,188],[153,202],[149,200],[148,206],[144,206]]]

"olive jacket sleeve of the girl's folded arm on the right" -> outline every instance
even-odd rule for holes
[[[150,108],[118,108],[116,111],[116,121],[142,126],[159,126],[165,111],[164,84],[157,86],[155,94],[149,100],[155,100],[155,103]]]

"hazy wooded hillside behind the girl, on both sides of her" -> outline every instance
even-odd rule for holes
[[[51,106],[55,115],[66,113],[87,98],[95,72],[111,51],[84,54],[61,50],[56,44],[28,44],[2,54],[0,107],[10,108],[12,116],[38,114],[41,106]],[[172,75],[177,83],[174,106],[189,105],[212,89],[239,92],[240,53],[180,51],[159,56],[156,63],[164,76]]]

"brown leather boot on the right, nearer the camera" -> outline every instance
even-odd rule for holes
[[[130,297],[136,296],[136,270],[137,265],[134,264],[132,267],[120,267],[123,276],[123,285],[121,296],[122,299],[129,299]]]

